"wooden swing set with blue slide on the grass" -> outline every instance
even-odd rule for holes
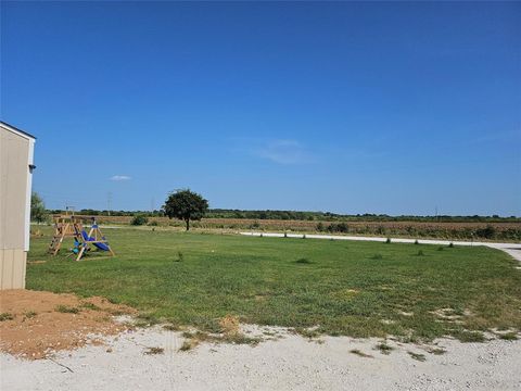
[[[72,255],[77,255],[76,261],[81,260],[86,252],[91,251],[96,247],[99,251],[107,251],[114,256],[109,241],[101,232],[100,227],[96,223],[96,218],[91,217],[92,224],[87,232],[84,229],[84,219],[74,215],[59,215],[54,217],[54,236],[49,244],[49,253],[56,255],[62,247],[65,238],[74,238],[74,248],[71,249]]]

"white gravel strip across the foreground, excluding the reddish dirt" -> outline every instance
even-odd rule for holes
[[[444,349],[443,354],[390,341],[395,349],[385,355],[376,350],[377,339],[309,341],[282,329],[276,333],[278,340],[257,346],[205,343],[180,352],[179,332],[155,328],[109,339],[105,346],[62,353],[53,361],[1,354],[0,386],[10,391],[521,389],[520,340],[442,339],[436,348]],[[163,348],[164,353],[147,355],[147,346]],[[355,349],[372,357],[352,353]]]

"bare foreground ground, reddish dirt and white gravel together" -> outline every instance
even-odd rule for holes
[[[136,312],[102,298],[12,290],[0,303],[1,390],[521,390],[519,335],[308,339],[225,317],[228,339],[193,341],[195,331],[122,323]]]

